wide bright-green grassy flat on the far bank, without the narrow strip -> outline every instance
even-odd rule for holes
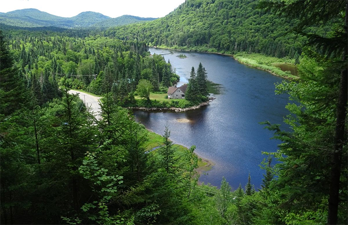
[[[298,79],[298,76],[294,76],[289,72],[284,72],[280,68],[275,67],[275,63],[288,63],[293,64],[294,60],[279,59],[276,57],[265,56],[257,53],[247,54],[238,53],[234,55],[234,58],[241,63],[250,65],[252,67],[271,72],[272,74],[283,77],[285,79]]]

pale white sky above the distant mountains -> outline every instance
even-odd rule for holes
[[[185,0],[0,0],[0,12],[36,8],[53,15],[72,17],[80,12],[100,12],[112,18],[121,15],[163,17]]]

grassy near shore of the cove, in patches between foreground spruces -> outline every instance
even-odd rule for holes
[[[155,133],[154,131],[150,129],[146,129],[146,131],[147,131],[147,135],[149,139],[143,144],[143,146],[145,147],[145,150],[147,152],[156,152],[156,150],[163,145],[163,137],[162,135]],[[173,147],[176,149],[178,155],[182,154],[185,150],[188,149],[187,147],[183,145],[179,145],[179,144],[174,144]],[[193,154],[196,154],[196,153],[193,153]],[[213,168],[214,163],[212,161],[210,161],[209,159],[203,158],[199,155],[197,155],[197,157],[198,157],[198,168],[196,168],[195,170],[198,174],[202,175]]]

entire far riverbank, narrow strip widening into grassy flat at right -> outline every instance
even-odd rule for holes
[[[164,46],[153,46],[153,48],[159,48],[159,49],[167,49],[167,50],[176,50],[176,51],[187,51],[187,52],[192,52],[194,50],[187,50],[187,49],[176,49],[176,48],[170,48],[170,47],[164,47]],[[234,58],[236,61],[238,61],[239,63],[242,63],[244,65],[259,69],[259,70],[263,70],[266,71],[274,76],[277,77],[281,77],[284,79],[289,79],[289,80],[293,80],[293,79],[299,79],[298,76],[289,74],[287,72],[282,71],[280,68],[273,66],[272,64],[274,63],[289,63],[289,61],[291,60],[284,60],[284,59],[279,59],[276,57],[270,57],[270,56],[265,56],[265,55],[261,55],[261,54],[257,54],[257,53],[252,53],[252,54],[247,54],[247,53],[237,53],[237,54],[225,54],[225,53],[221,53],[221,52],[208,52],[208,51],[197,51],[197,52],[203,52],[203,53],[212,53],[212,54],[218,54],[218,55],[226,55],[226,56],[230,56],[232,58]],[[257,60],[255,60],[255,55],[259,55],[261,57],[263,57],[265,60],[264,61],[270,61],[267,63],[263,63],[258,62]],[[260,61],[260,60],[259,60]]]

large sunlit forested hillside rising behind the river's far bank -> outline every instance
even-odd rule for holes
[[[108,35],[152,46],[293,58],[306,38],[291,32],[296,19],[258,8],[259,0],[186,0],[155,21],[110,28]],[[290,31],[290,32],[289,32]]]

